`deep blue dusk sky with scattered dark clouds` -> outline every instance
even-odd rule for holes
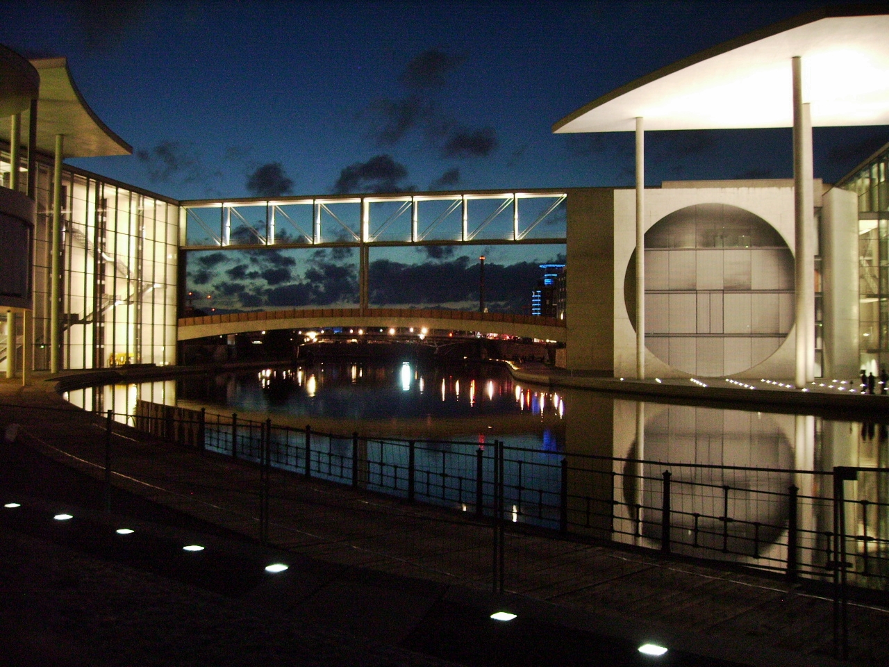
[[[551,125],[638,76],[822,4],[31,0],[0,3],[0,42],[67,56],[84,98],[134,149],[71,164],[169,197],[620,186],[633,181],[631,133],[554,135]],[[815,175],[837,180],[887,138],[885,127],[816,129]],[[649,185],[789,177],[790,131],[648,133],[646,170]],[[559,250],[495,253],[493,264]],[[403,269],[477,262],[477,250],[403,252]],[[204,254],[189,259],[189,287],[221,297],[224,283],[229,308],[286,305],[280,288],[320,279],[307,270],[354,264],[331,254]],[[396,261],[372,256],[383,259]],[[272,284],[261,276],[271,269],[289,275],[268,274]],[[289,301],[345,304],[342,278],[330,277],[340,283],[327,296],[294,286]],[[460,307],[464,296],[422,304]],[[379,302],[412,299],[420,304],[416,294]],[[516,299],[503,295],[502,308]]]

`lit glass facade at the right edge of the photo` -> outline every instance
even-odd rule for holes
[[[889,366],[889,144],[843,181],[858,195],[859,351],[878,375]]]

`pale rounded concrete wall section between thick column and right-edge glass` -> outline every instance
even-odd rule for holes
[[[821,204],[821,282],[824,376],[854,380],[859,358],[858,201],[831,188]]]

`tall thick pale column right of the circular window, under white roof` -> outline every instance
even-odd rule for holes
[[[803,387],[814,380],[814,197],[812,164],[812,118],[803,103],[802,60],[793,67],[793,179],[796,259],[797,351],[794,382]]]

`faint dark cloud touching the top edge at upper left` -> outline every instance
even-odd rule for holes
[[[139,28],[152,3],[145,0],[67,0],[65,7],[77,28],[84,33],[88,51],[105,51],[119,46],[124,37]]]

